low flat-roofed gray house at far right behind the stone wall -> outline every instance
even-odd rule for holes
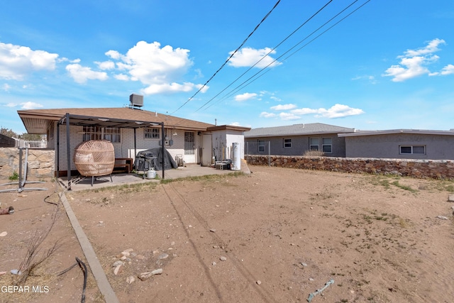
[[[394,129],[340,133],[348,158],[454,159],[454,131]]]

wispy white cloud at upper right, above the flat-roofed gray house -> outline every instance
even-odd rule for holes
[[[429,41],[428,45],[426,45],[425,48],[406,50],[404,55],[398,56],[398,58],[400,59],[399,65],[392,65],[384,72],[384,75],[382,76],[392,77],[393,82],[403,82],[407,79],[426,74],[429,76],[450,75],[450,65],[447,65],[445,68],[443,68],[442,72],[431,72],[426,67],[426,65],[430,65],[440,58],[438,57],[438,55],[433,55],[433,53],[440,50],[438,48],[438,45],[441,44],[445,44],[445,40],[437,38]]]

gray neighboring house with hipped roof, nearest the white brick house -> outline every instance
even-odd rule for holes
[[[323,123],[253,128],[244,133],[245,153],[304,155],[308,150],[320,150],[327,157],[345,157],[345,138],[338,134],[354,132],[354,128]]]

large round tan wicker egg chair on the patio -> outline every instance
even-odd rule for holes
[[[82,142],[75,148],[72,160],[82,176],[110,175],[115,165],[114,145],[106,140]]]

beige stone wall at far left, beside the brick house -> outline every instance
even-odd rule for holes
[[[22,163],[26,159],[23,149]],[[45,149],[28,149],[28,177],[54,177],[55,151]],[[0,148],[0,179],[8,179],[14,172],[19,173],[19,149]]]

